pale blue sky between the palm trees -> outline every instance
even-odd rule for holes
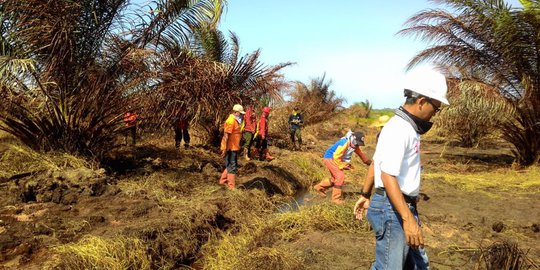
[[[375,109],[397,108],[405,67],[428,46],[397,32],[415,13],[442,7],[427,0],[229,0],[220,29],[239,37],[242,55],[260,49],[267,65],[295,62],[282,70],[287,80],[309,84],[326,74],[347,106],[368,100]]]

